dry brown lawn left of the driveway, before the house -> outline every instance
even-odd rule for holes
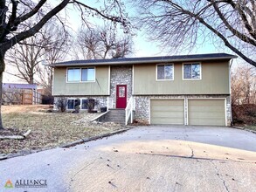
[[[10,154],[44,147],[57,147],[67,142],[77,141],[97,134],[106,134],[121,128],[88,126],[89,124],[86,124],[84,119],[90,120],[95,114],[38,113],[38,111],[42,110],[42,107],[31,106],[29,107],[30,109],[24,109],[24,107],[10,106],[10,110],[4,107],[5,112],[2,114],[3,126],[6,129],[16,129],[20,133],[25,133],[28,129],[31,129],[31,134],[24,141],[0,141],[0,154]],[[13,112],[14,108],[19,109],[18,113],[17,111]],[[81,123],[74,123],[81,119],[83,119]]]

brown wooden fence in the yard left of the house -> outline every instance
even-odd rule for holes
[[[42,95],[32,89],[3,89],[3,105],[35,105],[42,103]]]

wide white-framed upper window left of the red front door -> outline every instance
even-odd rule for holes
[[[86,82],[95,80],[95,68],[68,68],[67,82]]]

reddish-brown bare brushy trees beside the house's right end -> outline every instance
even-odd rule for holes
[[[232,70],[232,105],[256,104],[256,69],[239,66]]]

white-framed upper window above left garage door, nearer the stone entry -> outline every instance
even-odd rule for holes
[[[157,80],[173,80],[173,65],[156,65]]]

